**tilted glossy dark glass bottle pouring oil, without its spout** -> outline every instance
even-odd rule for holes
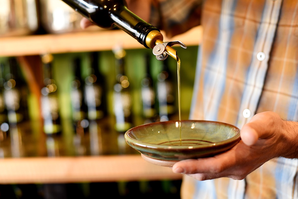
[[[158,30],[146,23],[125,6],[124,0],[63,0],[77,12],[102,28],[118,27],[146,45],[146,36],[152,30]]]

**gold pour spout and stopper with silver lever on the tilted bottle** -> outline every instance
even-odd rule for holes
[[[146,45],[153,49],[153,55],[156,56],[158,60],[165,60],[168,55],[173,57],[176,61],[179,60],[177,51],[172,48],[173,45],[179,44],[182,48],[187,48],[187,46],[180,41],[168,41],[163,42],[163,36],[159,31],[153,30],[149,32],[146,37]]]

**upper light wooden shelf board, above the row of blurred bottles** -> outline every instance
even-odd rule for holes
[[[164,32],[162,32],[163,35]],[[164,41],[181,41],[187,46],[201,42],[200,26]],[[121,43],[124,49],[145,48],[122,30],[83,31],[66,34],[28,35],[0,38],[0,56],[41,55],[45,53],[68,53],[111,50]]]

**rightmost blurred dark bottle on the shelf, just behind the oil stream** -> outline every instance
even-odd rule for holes
[[[168,121],[175,114],[175,94],[173,76],[168,60],[162,61],[162,71],[157,76],[156,93],[160,121]]]

